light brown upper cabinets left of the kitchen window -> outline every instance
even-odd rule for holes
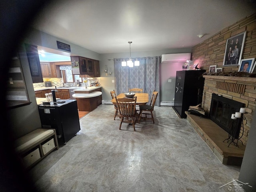
[[[43,78],[60,78],[60,66],[56,66],[54,62],[40,62]]]

